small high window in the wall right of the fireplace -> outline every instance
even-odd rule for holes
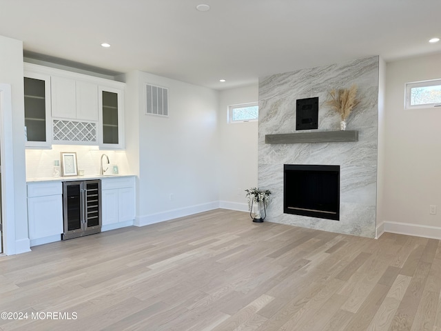
[[[406,109],[441,107],[441,79],[406,84]]]

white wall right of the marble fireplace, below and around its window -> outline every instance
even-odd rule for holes
[[[441,54],[387,63],[383,210],[389,232],[441,238],[441,109],[404,110],[404,84],[441,78]],[[436,205],[437,214],[429,214]]]

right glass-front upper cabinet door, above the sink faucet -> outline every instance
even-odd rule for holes
[[[100,148],[124,148],[123,91],[99,87]]]

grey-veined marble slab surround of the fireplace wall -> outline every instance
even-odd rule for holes
[[[375,237],[378,77],[379,58],[369,57],[259,79],[258,186],[272,192],[265,221]],[[358,141],[265,143],[267,135],[340,130],[325,101],[332,88],[353,83],[361,102],[347,126],[358,131]],[[296,99],[310,97],[319,98],[318,130],[296,132]],[[340,165],[340,221],[283,213],[284,164]]]

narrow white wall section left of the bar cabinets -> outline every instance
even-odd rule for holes
[[[0,83],[10,84],[12,91],[12,137],[9,138],[14,145],[15,247],[8,247],[7,253],[15,254],[29,250],[25,183],[23,43],[1,36]]]

